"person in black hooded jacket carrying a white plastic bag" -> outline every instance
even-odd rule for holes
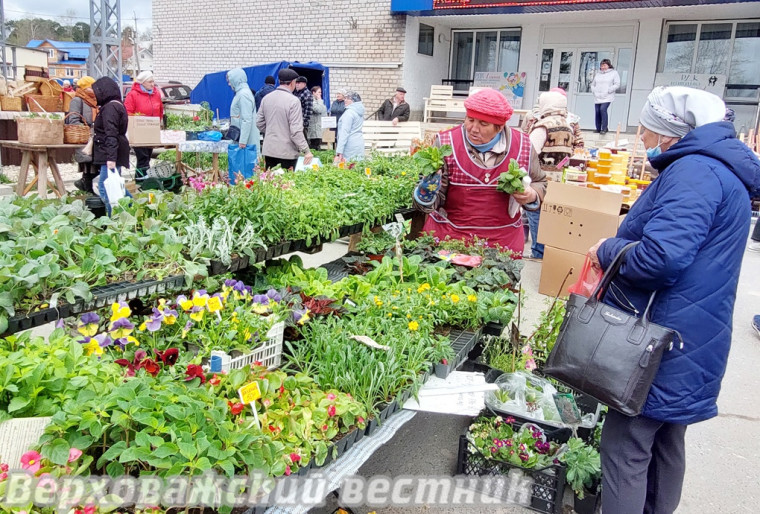
[[[121,175],[121,167],[129,168],[129,141],[127,126],[129,125],[127,109],[121,103],[119,85],[113,79],[101,77],[92,85],[95,99],[98,102],[98,116],[93,125],[94,136],[92,144],[93,168],[100,168],[98,190],[110,216],[111,204],[108,201],[104,182],[108,170],[116,170]],[[131,196],[129,191],[127,196]]]

